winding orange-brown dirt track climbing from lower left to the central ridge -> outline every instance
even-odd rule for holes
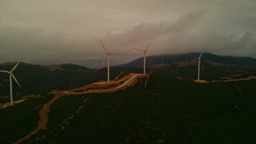
[[[140,75],[144,75],[144,74],[135,74],[134,76],[132,76],[129,80],[127,80],[126,82],[123,83],[123,85],[116,87],[116,88],[112,88],[112,89],[106,89],[103,91],[94,91],[94,92],[82,92],[82,93],[102,93],[102,92],[109,92],[109,91],[115,91],[118,90],[122,87],[124,87],[128,82],[130,82],[131,80],[133,80],[135,77],[140,76]],[[127,79],[127,77],[125,78]],[[51,93],[53,93],[55,95],[55,97],[48,101],[48,103],[44,104],[42,109],[39,111],[39,122],[38,125],[36,127],[36,129],[34,129],[33,131],[31,131],[30,134],[22,137],[21,139],[19,139],[18,141],[14,142],[14,144],[20,143],[24,140],[27,140],[28,138],[31,137],[31,135],[36,134],[39,130],[44,130],[46,129],[47,123],[49,121],[49,112],[50,112],[50,106],[55,102],[55,100],[59,99],[60,97],[66,95],[66,94],[82,94],[82,93],[68,93],[67,91],[51,91]]]

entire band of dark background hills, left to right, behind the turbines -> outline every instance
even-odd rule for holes
[[[194,61],[194,55],[197,58],[200,53],[148,56],[146,58],[146,72],[155,70],[160,73],[194,80],[197,78],[197,61]],[[188,56],[188,63],[186,63],[185,56]],[[173,63],[174,57],[175,63]],[[161,65],[162,58],[164,58],[163,63],[165,64],[163,66]],[[231,74],[256,73],[256,59],[251,57],[217,56],[212,53],[204,53],[201,58],[203,64],[201,78],[205,80],[219,79]],[[152,59],[152,65],[150,65],[149,59]],[[2,63],[0,69],[10,70],[14,67],[14,64],[11,62]],[[114,79],[121,71],[143,73],[143,58],[111,67],[110,79]],[[22,62],[16,68],[14,74],[23,88],[20,90],[18,85],[14,84],[14,92],[34,94],[49,92],[52,89],[80,87],[92,82],[106,80],[107,69],[95,70],[75,64],[38,65]],[[9,77],[4,73],[0,73],[0,77],[0,94],[1,96],[8,95]]]

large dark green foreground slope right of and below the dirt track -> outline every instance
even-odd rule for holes
[[[150,76],[147,89],[144,81],[112,94],[61,97],[51,107],[49,129],[24,143],[255,141],[255,81],[201,85],[156,73]],[[59,127],[72,115],[65,130]]]

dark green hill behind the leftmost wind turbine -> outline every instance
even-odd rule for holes
[[[15,63],[0,64],[1,70],[10,71],[13,69]],[[20,83],[22,89],[13,80],[13,91],[16,95],[14,99],[26,94],[45,94],[52,89],[67,89],[71,87],[79,87],[90,83],[85,79],[79,79],[83,75],[91,74],[93,69],[88,69],[80,65],[74,64],[59,64],[58,68],[67,69],[51,70],[49,66],[33,65],[27,63],[20,63],[14,70],[13,74]],[[97,79],[95,80],[97,81]],[[0,73],[0,96],[9,95],[9,75]],[[1,99],[3,100],[3,99]]]

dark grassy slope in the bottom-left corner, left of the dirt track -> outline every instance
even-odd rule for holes
[[[53,97],[53,94],[49,94],[44,98],[30,98],[6,109],[0,109],[0,143],[15,142],[34,130],[39,121],[39,110]]]

